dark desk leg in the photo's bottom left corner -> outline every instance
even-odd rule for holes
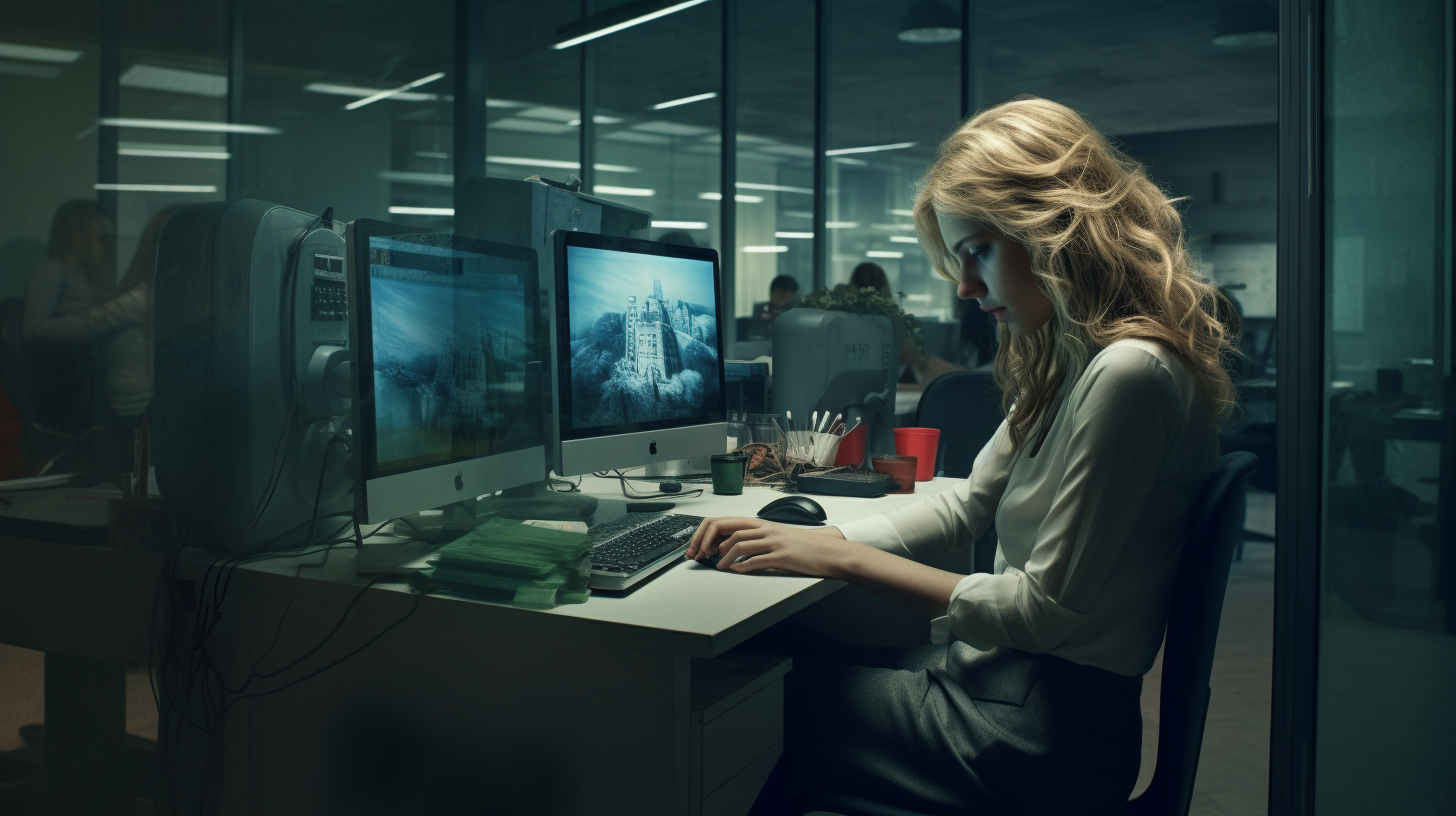
[[[125,667],[47,653],[45,787],[55,813],[122,809],[125,739]]]

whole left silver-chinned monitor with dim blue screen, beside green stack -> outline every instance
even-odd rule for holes
[[[543,479],[536,254],[363,219],[347,238],[361,522]]]

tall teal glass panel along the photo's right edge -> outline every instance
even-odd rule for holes
[[[1456,799],[1456,596],[1439,574],[1452,558],[1439,514],[1452,479],[1450,13],[1434,0],[1399,15],[1326,6],[1322,816],[1441,813]]]

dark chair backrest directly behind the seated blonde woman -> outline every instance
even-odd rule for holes
[[[1243,535],[1245,490],[1258,463],[1252,453],[1226,453],[1194,507],[1168,608],[1158,765],[1147,790],[1127,803],[1130,816],[1187,816],[1192,803],[1219,618],[1233,548]]]

